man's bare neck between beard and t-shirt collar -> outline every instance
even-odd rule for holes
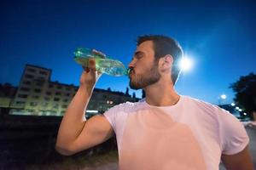
[[[144,89],[148,105],[168,106],[175,105],[180,96],[174,90],[172,83],[157,82]]]

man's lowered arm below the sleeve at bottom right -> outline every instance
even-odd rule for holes
[[[253,170],[253,161],[248,147],[235,155],[222,155],[221,160],[227,170]]]

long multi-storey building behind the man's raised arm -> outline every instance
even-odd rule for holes
[[[51,70],[26,65],[16,88],[15,97],[9,99],[9,114],[33,116],[62,116],[79,89],[73,84],[50,81]],[[113,105],[135,102],[129,94],[95,88],[87,107],[87,116],[103,113]]]

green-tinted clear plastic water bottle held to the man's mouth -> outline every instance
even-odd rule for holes
[[[88,60],[94,58],[96,60],[96,71],[108,74],[110,76],[128,76],[128,69],[125,68],[122,62],[116,59],[110,59],[109,56],[102,54],[95,49],[90,48],[77,48],[74,52],[74,60],[83,66],[88,65]]]

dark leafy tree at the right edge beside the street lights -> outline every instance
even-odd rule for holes
[[[247,114],[255,120],[256,116],[256,75],[253,73],[240,77],[230,85],[236,94],[234,101],[242,106]],[[255,115],[253,117],[253,115]]]

